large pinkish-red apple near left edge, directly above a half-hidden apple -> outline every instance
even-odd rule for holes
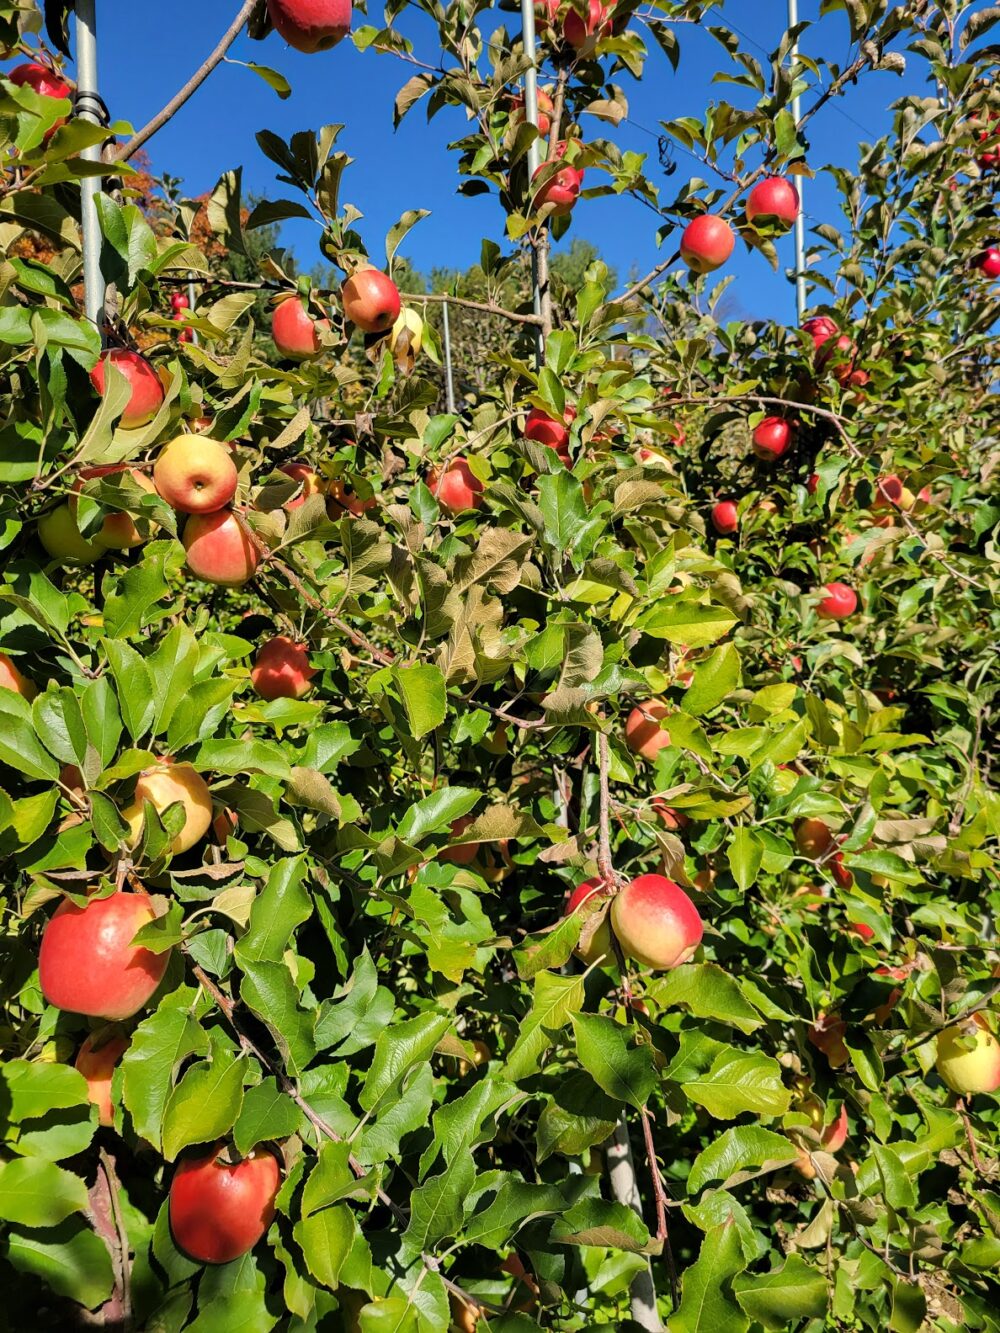
[[[49,918],[39,950],[41,992],[56,1009],[92,1018],[131,1018],[167,970],[171,950],[132,944],[155,918],[145,893],[112,893],[79,908],[67,898]]]

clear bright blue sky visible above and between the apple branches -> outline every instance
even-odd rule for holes
[[[213,4],[171,0],[168,8],[169,17],[163,4],[97,0],[101,93],[112,117],[140,125],[159,111],[215,45],[237,0]],[[744,45],[763,59],[784,31],[785,12],[785,0],[728,0],[713,21],[743,29]],[[800,17],[816,20],[817,15],[819,0],[803,0]],[[367,21],[360,13],[355,19],[356,24]],[[508,25],[517,23],[511,13],[503,19]],[[429,20],[408,13],[401,29],[416,43],[417,56],[436,60]],[[649,153],[653,180],[663,177],[656,164],[656,139],[649,131],[657,132],[660,120],[700,116],[711,100],[747,104],[752,96],[732,84],[712,84],[713,72],[725,67],[721,47],[693,25],[681,25],[679,31],[681,63],[676,75],[651,43],[643,81],[637,84],[627,75],[619,79],[629,101],[629,123],[613,129],[584,117],[585,136],[612,137],[623,148]],[[817,21],[807,31],[803,49],[843,64],[849,49],[844,17],[833,15]],[[280,69],[292,83],[292,96],[279,100],[260,77],[241,65],[220,67],[151,141],[156,173],[184,177],[185,189],[196,195],[211,189],[224,171],[241,164],[244,188],[275,197],[283,187],[275,181],[275,169],[260,153],[255,133],[268,128],[288,137],[293,131],[344,123],[340,147],[355,157],[355,165],[344,177],[341,200],[349,200],[365,215],[359,225],[373,256],[381,256],[385,232],[407,208],[432,212],[411,232],[404,247],[424,272],[435,265],[464,268],[479,259],[483,235],[501,236],[503,213],[495,197],[456,195],[456,159],[447,144],[467,132],[461,112],[448,108],[428,125],[420,105],[393,132],[393,99],[415,72],[411,65],[392,56],[359,53],[348,40],[331,52],[303,56],[277,35],[264,43],[243,37],[231,56]],[[885,131],[888,105],[904,92],[917,89],[916,73],[923,76],[923,69],[916,61],[913,69],[913,75],[908,72],[903,79],[868,73],[844,99],[828,104],[809,125],[811,165],[820,168],[836,161],[853,167],[859,141]],[[680,149],[675,156],[677,171],[663,180],[667,199],[683,179],[700,173],[696,160]],[[840,221],[836,197],[823,177],[809,184],[805,208],[812,221]],[[633,267],[647,272],[664,257],[656,249],[655,232],[656,217],[641,204],[603,199],[577,207],[568,239],[579,235],[596,244],[625,279]],[[283,233],[307,271],[321,259],[316,239],[316,229],[307,223],[289,224]],[[779,248],[783,264],[789,264],[791,239],[780,241]],[[745,255],[741,245],[731,271],[736,279],[731,304],[753,317],[789,317],[793,292],[784,272],[775,273],[761,256]]]

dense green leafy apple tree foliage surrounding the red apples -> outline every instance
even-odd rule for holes
[[[405,49],[400,8],[355,32],[369,59]],[[520,47],[491,5],[420,8],[440,73],[415,76],[397,113],[471,108],[467,188],[507,217],[459,295],[525,316],[548,228],[525,199],[535,131],[509,123]],[[543,47],[587,140],[576,207],[641,195],[669,260],[707,205],[765,264],[791,243],[743,221],[749,184],[817,169],[811,108],[851,79],[888,85],[905,57],[921,96],[836,167],[841,227],[811,237],[812,313],[845,345],[719,323],[720,275],[672,261],[616,295],[591,257],[556,273],[541,368],[535,325],[465,308],[483,344],[469,328],[457,415],[439,411],[436,343],[411,372],[388,339],[351,341],[336,291],[312,293],[320,356],[281,360],[261,328],[296,289],[261,229],[319,217],[317,263],[349,272],[365,247],[392,265],[421,221],[404,215],[384,251],[364,233],[325,127],[263,132],[287,197],[248,212],[225,176],[211,236],[193,204],[140,207],[128,168],[103,196],[112,343],[140,340],[168,385],[121,428],[119,377],[103,400],[88,380],[100,336],[77,285],[79,153],[101,132],[72,120],[47,139],[67,105],[3,83],[0,651],[39,690],[0,688],[13,1329],[76,1326],[83,1306],[157,1333],[436,1333],[471,1326],[469,1302],[497,1333],[628,1329],[647,1273],[676,1333],[1000,1328],[1000,1106],[935,1069],[956,1020],[996,1028],[1000,989],[999,312],[975,265],[995,235],[997,176],[976,153],[1000,116],[1000,11],[824,0],[803,55],[785,40],[767,67],[716,28],[741,107],[665,127],[713,183],[664,200],[580,117],[613,135],[612,80],[641,77],[641,35],[673,59],[708,8],[660,0],[633,21],[625,4],[596,56]],[[0,0],[12,49],[39,23]],[[833,67],[816,52],[847,23]],[[181,344],[169,293],[188,275],[197,343]],[[531,408],[568,407],[569,465],[523,436]],[[772,463],[751,451],[768,415],[796,427]],[[184,516],[159,496],[80,476],[149,471],[199,419],[233,444],[260,556],[239,588],[191,575]],[[459,456],[484,492],[452,516],[428,480]],[[295,461],[371,505],[292,504]],[[880,497],[891,476],[912,505]],[[39,521],[75,487],[84,539],[127,512],[148,540],[51,559]],[[721,499],[732,536],[709,521]],[[817,615],[831,581],[859,599],[843,623]],[[273,635],[308,644],[301,698],[252,686]],[[669,742],[649,762],[624,726],[652,698]],[[181,806],[147,804],[137,842],[121,818],[163,757],[213,801],[207,837],[175,856]],[[804,818],[836,841],[803,849]],[[660,870],[705,922],[692,961],[655,972],[615,946],[584,966],[596,918],[563,917],[567,893]],[[123,886],[155,894],[139,940],[169,962],[117,1025],[129,1045],[99,1126],[73,1060],[103,1022],[47,1004],[37,958],[60,898]],[[233,1160],[265,1145],[284,1178],[267,1237],[207,1266],[165,1201],[177,1164],[219,1140]]]

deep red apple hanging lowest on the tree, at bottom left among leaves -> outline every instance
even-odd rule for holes
[[[229,1264],[249,1253],[275,1217],[281,1172],[265,1149],[239,1165],[220,1161],[221,1142],[185,1158],[169,1193],[171,1232],[179,1249],[201,1264]]]

